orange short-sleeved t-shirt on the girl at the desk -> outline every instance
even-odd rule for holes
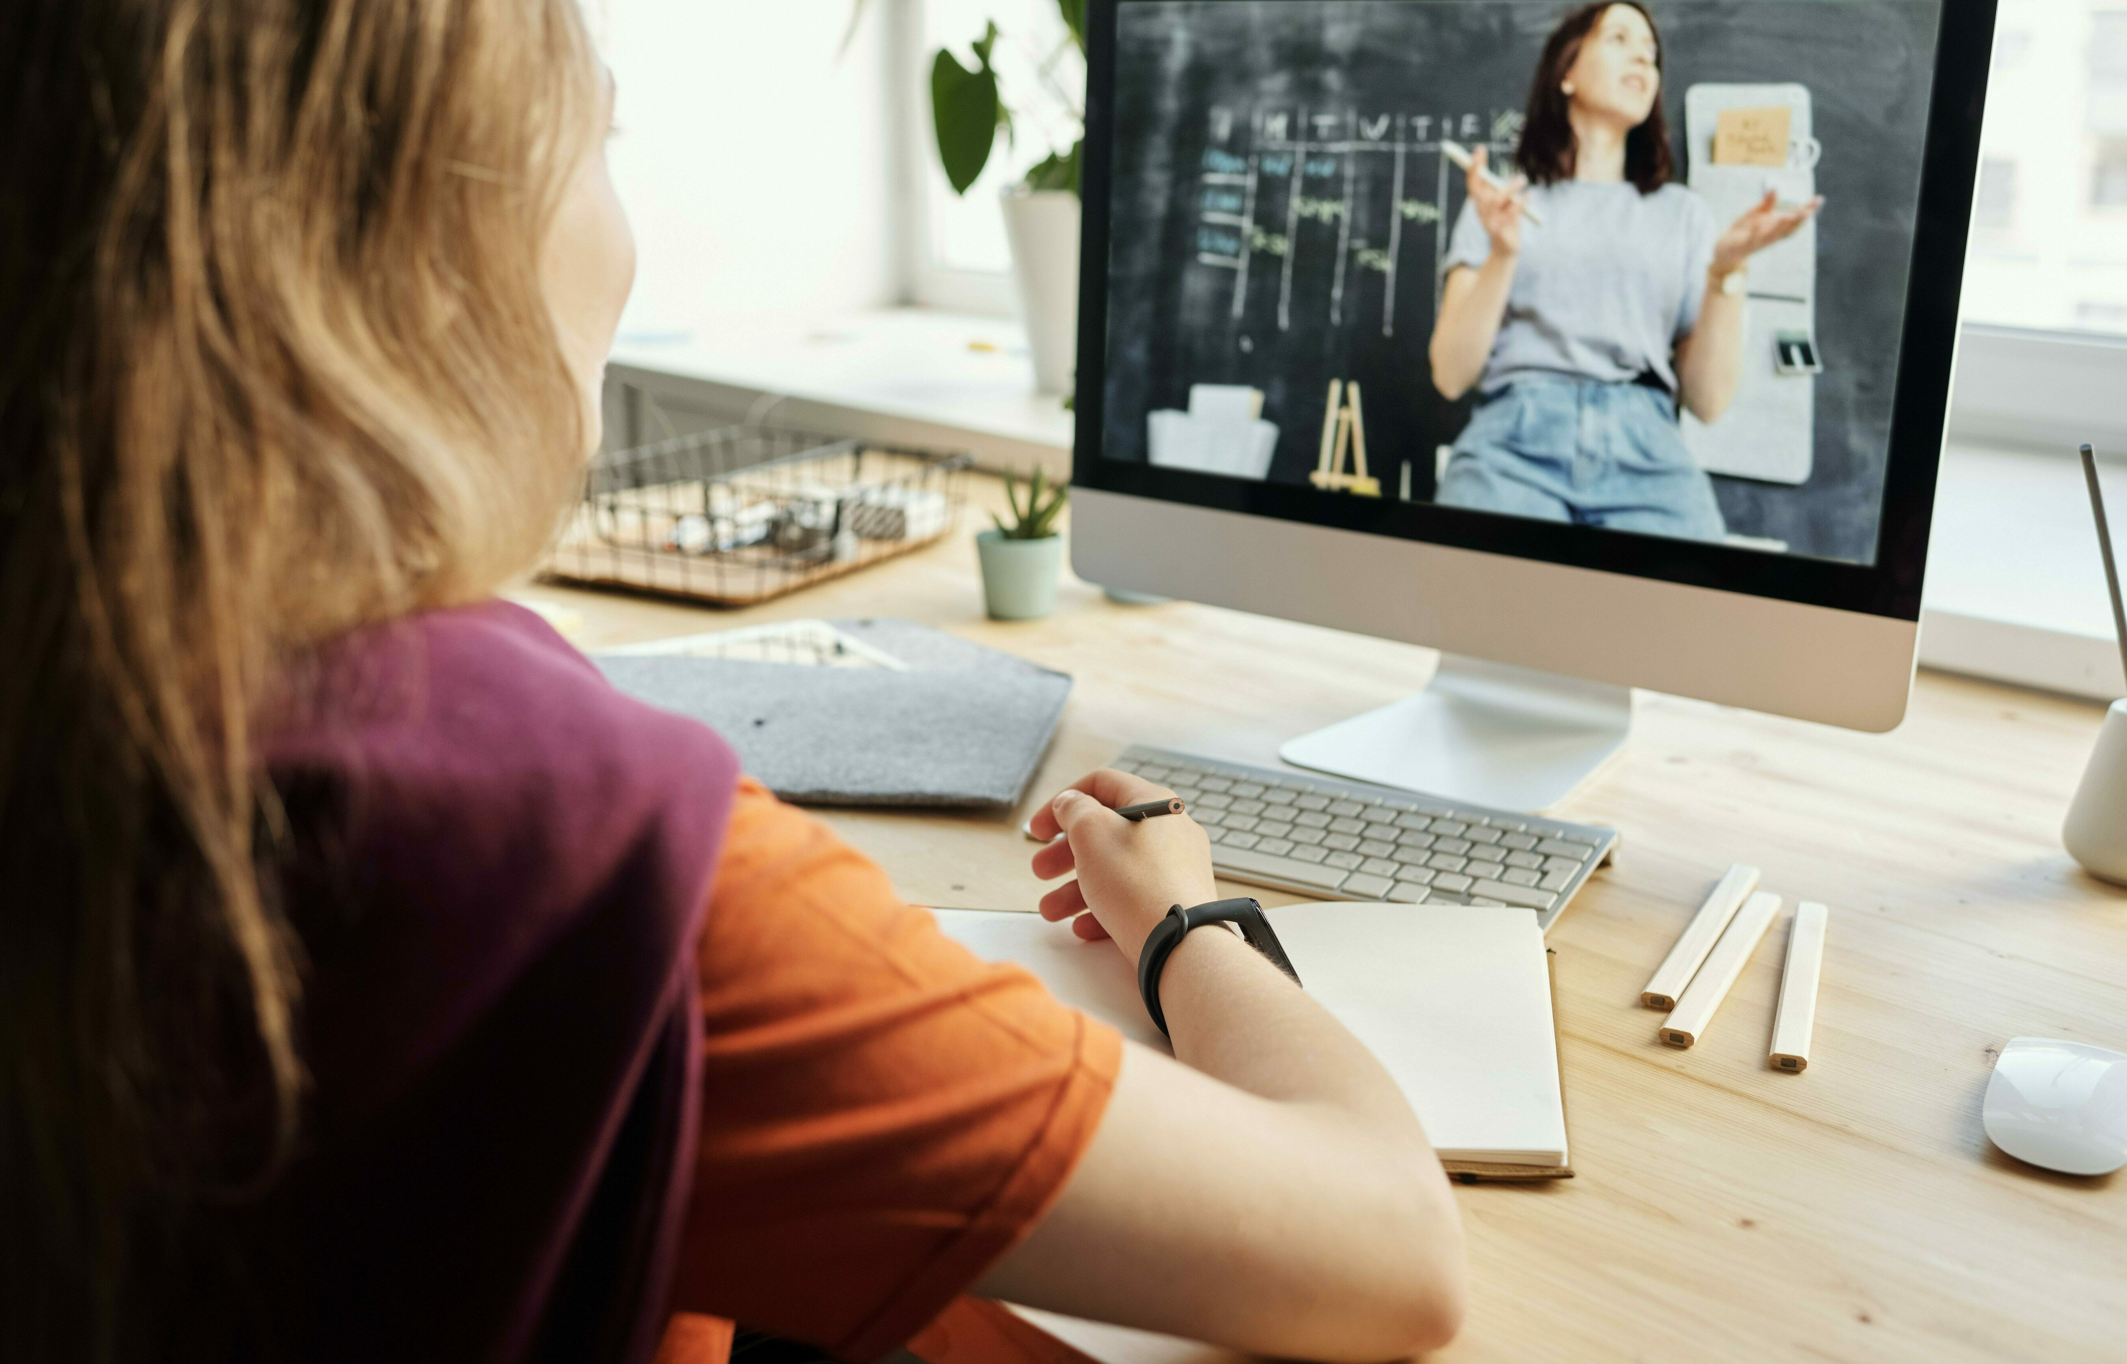
[[[700,981],[702,1134],[659,1364],[721,1364],[732,1319],[844,1360],[895,1349],[1049,1211],[1123,1058],[753,779]]]

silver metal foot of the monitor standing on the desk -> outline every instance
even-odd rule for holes
[[[1353,781],[1544,811],[1593,777],[1629,730],[1629,687],[1442,653],[1417,696],[1302,734],[1278,755]]]

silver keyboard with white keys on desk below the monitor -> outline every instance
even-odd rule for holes
[[[1140,745],[1115,766],[1189,802],[1221,877],[1323,900],[1519,904],[1548,932],[1619,841],[1589,824]]]

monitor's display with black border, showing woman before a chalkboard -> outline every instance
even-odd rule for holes
[[[1991,4],[1098,13],[1083,483],[1916,611]]]

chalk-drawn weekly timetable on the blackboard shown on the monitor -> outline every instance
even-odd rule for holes
[[[1380,279],[1380,334],[1395,336],[1395,272],[1406,264],[1408,251],[1431,257],[1434,279],[1446,253],[1448,177],[1461,172],[1440,155],[1440,140],[1485,145],[1493,164],[1508,162],[1521,143],[1521,111],[1478,115],[1217,104],[1208,113],[1208,132],[1210,145],[1200,170],[1195,262],[1234,272],[1234,321],[1249,306],[1249,292],[1274,281],[1278,330],[1289,332],[1297,257],[1336,251],[1329,296],[1323,300],[1329,323],[1344,321],[1344,292],[1355,283],[1351,272],[1366,272]],[[1361,217],[1378,221],[1359,221]],[[1425,264],[1423,257],[1419,264]]]

